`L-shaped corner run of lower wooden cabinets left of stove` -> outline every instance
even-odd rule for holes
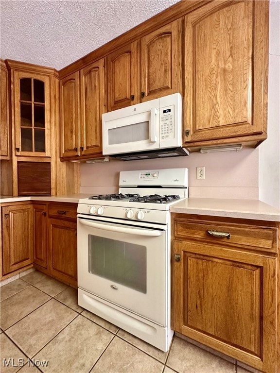
[[[2,266],[7,277],[35,266],[77,287],[77,203],[5,203]]]

